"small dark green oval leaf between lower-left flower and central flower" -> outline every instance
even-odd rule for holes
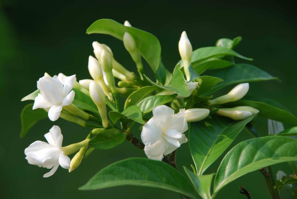
[[[97,149],[110,149],[124,142],[126,134],[119,129],[109,129],[98,134],[89,141],[89,145]]]

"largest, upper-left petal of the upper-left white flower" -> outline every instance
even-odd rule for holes
[[[37,82],[37,87],[45,100],[55,105],[62,104],[64,87],[58,78],[42,77]]]

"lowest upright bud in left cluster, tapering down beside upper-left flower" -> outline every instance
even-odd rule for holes
[[[105,96],[104,96],[103,90],[98,84],[91,82],[89,91],[90,91],[90,96],[92,100],[94,101],[94,103],[98,108],[99,115],[101,116],[101,119],[102,119],[102,125],[104,128],[106,128],[108,126],[108,119],[107,119]]]

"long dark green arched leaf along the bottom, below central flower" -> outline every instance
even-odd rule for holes
[[[110,164],[79,189],[94,190],[126,185],[167,189],[196,198],[191,183],[175,168],[147,158],[129,158]]]

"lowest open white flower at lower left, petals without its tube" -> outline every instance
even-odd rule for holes
[[[62,151],[63,135],[60,127],[53,126],[44,137],[48,143],[35,141],[25,149],[28,163],[51,169],[43,175],[44,178],[53,175],[59,165],[64,169],[70,169],[70,159]]]

